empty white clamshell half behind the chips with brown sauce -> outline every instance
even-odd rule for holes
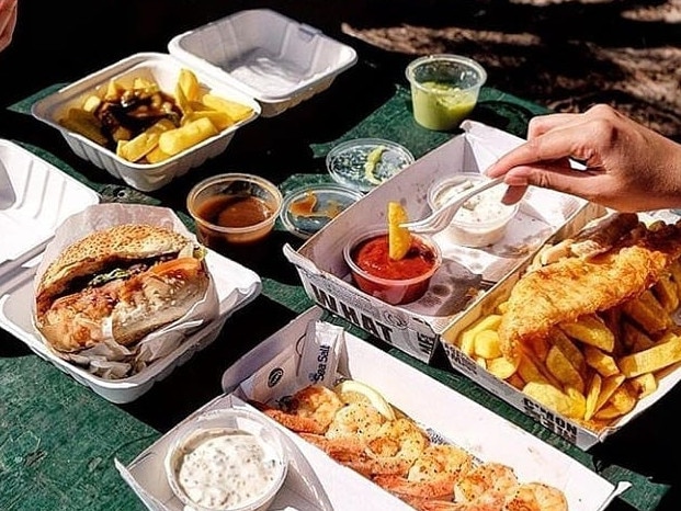
[[[240,11],[177,35],[169,50],[258,100],[263,117],[328,89],[357,60],[352,47],[270,9]]]

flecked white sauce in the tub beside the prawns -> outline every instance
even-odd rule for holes
[[[207,430],[183,447],[178,482],[197,506],[230,509],[258,500],[282,472],[274,451],[239,430]]]

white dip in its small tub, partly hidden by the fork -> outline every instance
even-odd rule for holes
[[[466,180],[443,189],[434,202],[442,205],[475,185],[475,182]],[[506,225],[515,211],[514,206],[501,203],[503,194],[503,186],[493,186],[466,201],[454,215],[449,228],[454,240],[467,247],[484,247],[501,239]]]

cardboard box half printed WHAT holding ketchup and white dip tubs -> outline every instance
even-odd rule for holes
[[[466,121],[464,133],[423,156],[345,209],[297,251],[284,247],[305,291],[321,307],[421,361],[430,361],[442,333],[477,303],[485,291],[513,273],[552,237],[566,237],[604,214],[601,207],[551,190],[532,189],[504,237],[475,249],[461,247],[446,232],[433,237],[443,252],[442,268],[419,300],[388,305],[353,285],[343,247],[368,226],[386,226],[387,204],[399,201],[410,218],[425,216],[433,183],[457,172],[481,172],[522,139]],[[479,293],[470,298],[470,288]]]

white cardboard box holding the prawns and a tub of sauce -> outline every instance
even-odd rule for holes
[[[206,411],[248,407],[245,401],[250,398],[277,399],[294,388],[302,340],[310,322],[325,321],[324,314],[319,307],[313,307],[298,316],[227,368],[223,375],[226,394],[188,417],[128,465],[116,461],[122,477],[149,509],[182,509],[163,474],[163,459],[175,431]],[[571,511],[604,510],[631,486],[626,481],[606,481],[565,453],[347,331],[339,360],[340,375],[379,390],[439,439],[467,450],[480,462],[511,466],[521,481],[556,486],[565,493]],[[376,371],[377,366],[382,371]],[[433,407],[433,402],[438,406]],[[284,487],[271,509],[412,509],[365,477],[340,466],[299,435],[272,423],[282,433],[291,463]]]

